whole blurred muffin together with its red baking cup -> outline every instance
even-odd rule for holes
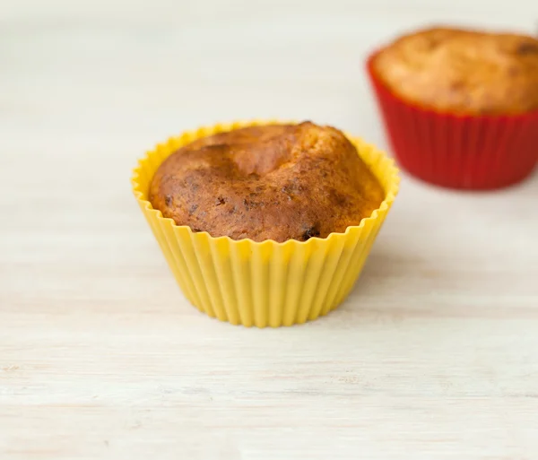
[[[538,40],[434,28],[369,56],[400,164],[430,183],[506,187],[538,161]]]

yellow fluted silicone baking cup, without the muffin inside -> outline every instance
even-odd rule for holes
[[[170,269],[200,311],[233,325],[302,324],[326,315],[347,297],[398,192],[398,169],[384,153],[346,135],[385,190],[385,200],[360,225],[325,239],[255,242],[213,238],[162,217],[148,201],[156,170],[179,147],[239,127],[277,123],[236,122],[202,127],[159,144],[138,161],[133,191]]]

